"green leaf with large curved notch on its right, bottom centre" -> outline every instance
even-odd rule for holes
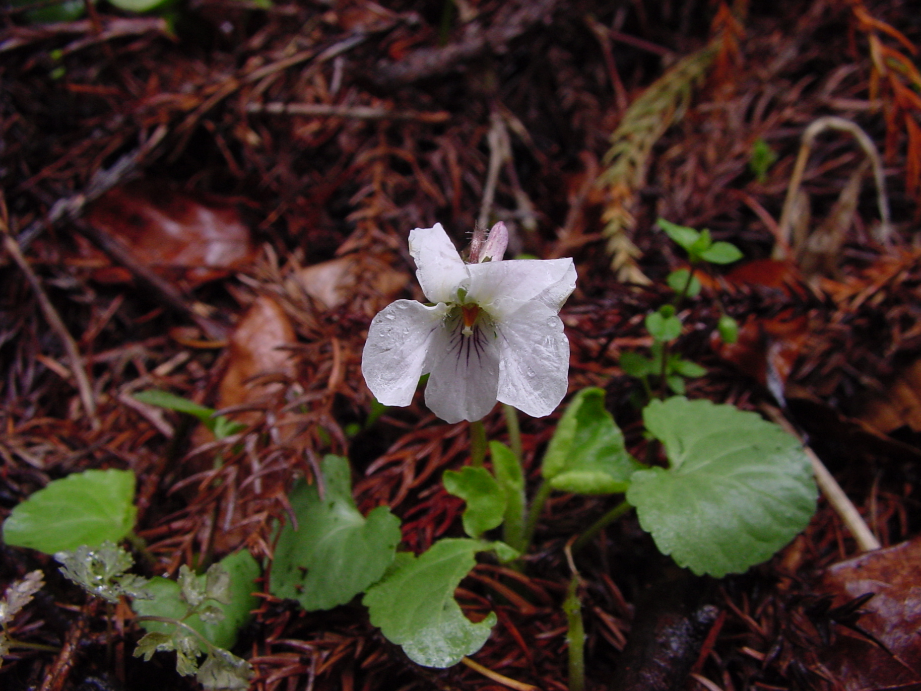
[[[483,647],[495,625],[491,612],[474,624],[463,615],[454,589],[475,565],[480,540],[445,539],[371,586],[363,602],[371,623],[411,660],[425,667],[450,667]]]

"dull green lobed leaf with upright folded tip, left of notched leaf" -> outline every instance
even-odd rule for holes
[[[308,610],[347,603],[383,575],[401,540],[400,520],[387,507],[363,518],[352,498],[348,461],[326,456],[325,497],[301,482],[291,492],[297,529],[286,525],[275,547],[269,590]]]

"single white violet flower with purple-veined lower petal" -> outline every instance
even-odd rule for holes
[[[436,223],[409,234],[426,298],[397,300],[371,322],[361,359],[385,405],[409,405],[429,373],[426,405],[447,422],[479,420],[496,400],[550,415],[566,392],[569,342],[558,312],[576,287],[572,259],[502,261],[508,234],[497,223],[474,235],[472,264]]]

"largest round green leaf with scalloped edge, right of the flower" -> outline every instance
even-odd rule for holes
[[[664,554],[721,578],[787,545],[815,511],[816,487],[799,441],[754,413],[682,397],[643,413],[670,467],[631,478],[627,500]]]

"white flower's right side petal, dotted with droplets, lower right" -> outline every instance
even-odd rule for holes
[[[498,400],[530,416],[554,412],[565,396],[569,376],[569,341],[556,312],[541,302],[527,302],[498,323]]]

